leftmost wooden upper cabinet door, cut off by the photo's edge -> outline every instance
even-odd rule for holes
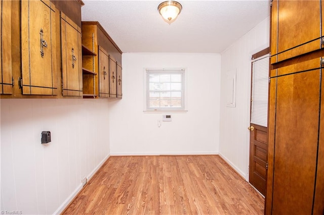
[[[12,57],[11,57],[11,1],[1,1],[1,27],[0,27],[0,94],[12,94]]]

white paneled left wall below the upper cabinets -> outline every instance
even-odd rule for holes
[[[1,210],[64,209],[109,156],[108,112],[106,99],[1,99]]]

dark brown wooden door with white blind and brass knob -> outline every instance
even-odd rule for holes
[[[269,48],[252,56],[249,182],[266,193]]]

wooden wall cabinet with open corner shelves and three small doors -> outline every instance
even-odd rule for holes
[[[121,91],[121,50],[99,22],[82,22],[82,43],[94,52],[91,57],[83,54],[84,69],[93,73],[83,73],[84,98],[117,98],[117,65]]]

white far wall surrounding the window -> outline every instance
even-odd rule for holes
[[[219,145],[221,56],[201,53],[123,53],[123,99],[110,103],[110,152],[216,154]],[[143,70],[185,68],[188,112],[143,112]]]

